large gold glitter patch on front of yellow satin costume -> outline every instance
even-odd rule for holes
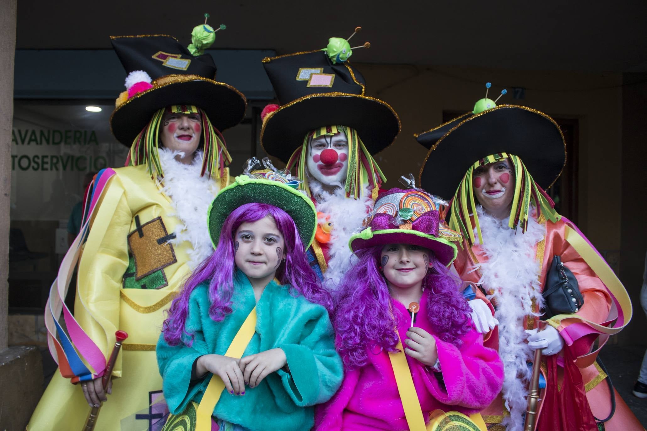
[[[168,243],[175,235],[168,235],[162,217],[139,224],[139,216],[135,216],[135,226],[137,229],[128,235],[128,249],[135,258],[135,280],[177,262],[175,250]]]

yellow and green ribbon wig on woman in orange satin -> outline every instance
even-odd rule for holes
[[[553,200],[534,182],[519,156],[505,152],[491,154],[481,160],[477,160],[476,163],[469,167],[465,176],[463,176],[463,180],[461,180],[461,184],[456,189],[452,202],[450,202],[450,207],[452,208],[452,215],[449,220],[450,229],[460,232],[463,238],[468,240],[470,246],[475,242],[475,227],[479,244],[483,244],[479,216],[476,212],[476,200],[474,199],[474,191],[472,189],[474,169],[504,158],[508,158],[514,166],[514,197],[512,198],[512,209],[510,210],[510,218],[508,220],[510,229],[516,229],[517,226],[521,226],[521,231],[525,233],[528,227],[531,204],[537,208],[539,213],[551,220],[551,222],[556,222],[560,219],[560,215],[553,208]],[[472,224],[472,218],[474,218],[474,224]]]

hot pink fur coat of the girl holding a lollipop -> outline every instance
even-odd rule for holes
[[[426,311],[428,295],[428,291],[422,295],[415,326],[434,335]],[[404,342],[411,315],[399,302],[394,301],[394,304],[394,314],[399,317],[398,332]],[[435,409],[471,414],[489,405],[503,384],[503,364],[496,352],[483,346],[481,334],[474,329],[461,338],[459,348],[435,335],[434,339],[441,363],[440,373],[407,356],[425,417]],[[366,365],[345,370],[340,390],[331,401],[318,407],[315,429],[408,429],[388,352],[369,353]]]

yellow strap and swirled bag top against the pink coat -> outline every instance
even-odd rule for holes
[[[402,400],[402,407],[404,407],[404,417],[406,417],[406,422],[409,425],[409,431],[440,431],[447,426],[450,426],[450,429],[457,430],[487,431],[485,422],[478,413],[467,417],[459,412],[435,410],[432,412],[429,425],[425,425],[420,400],[418,399],[418,394],[415,392],[415,386],[413,386],[411,370],[409,369],[409,364],[406,362],[406,353],[404,353],[404,349],[402,348],[400,334],[397,335],[398,344],[395,348],[399,352],[389,352],[389,359],[391,360],[391,366],[395,374],[395,383],[398,386],[400,400]],[[458,426],[458,428],[452,428],[451,425]]]

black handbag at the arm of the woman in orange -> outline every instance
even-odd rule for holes
[[[544,286],[542,296],[546,312],[542,319],[550,319],[558,314],[572,314],[584,305],[584,297],[575,275],[562,264],[562,258],[557,255],[553,256]]]

